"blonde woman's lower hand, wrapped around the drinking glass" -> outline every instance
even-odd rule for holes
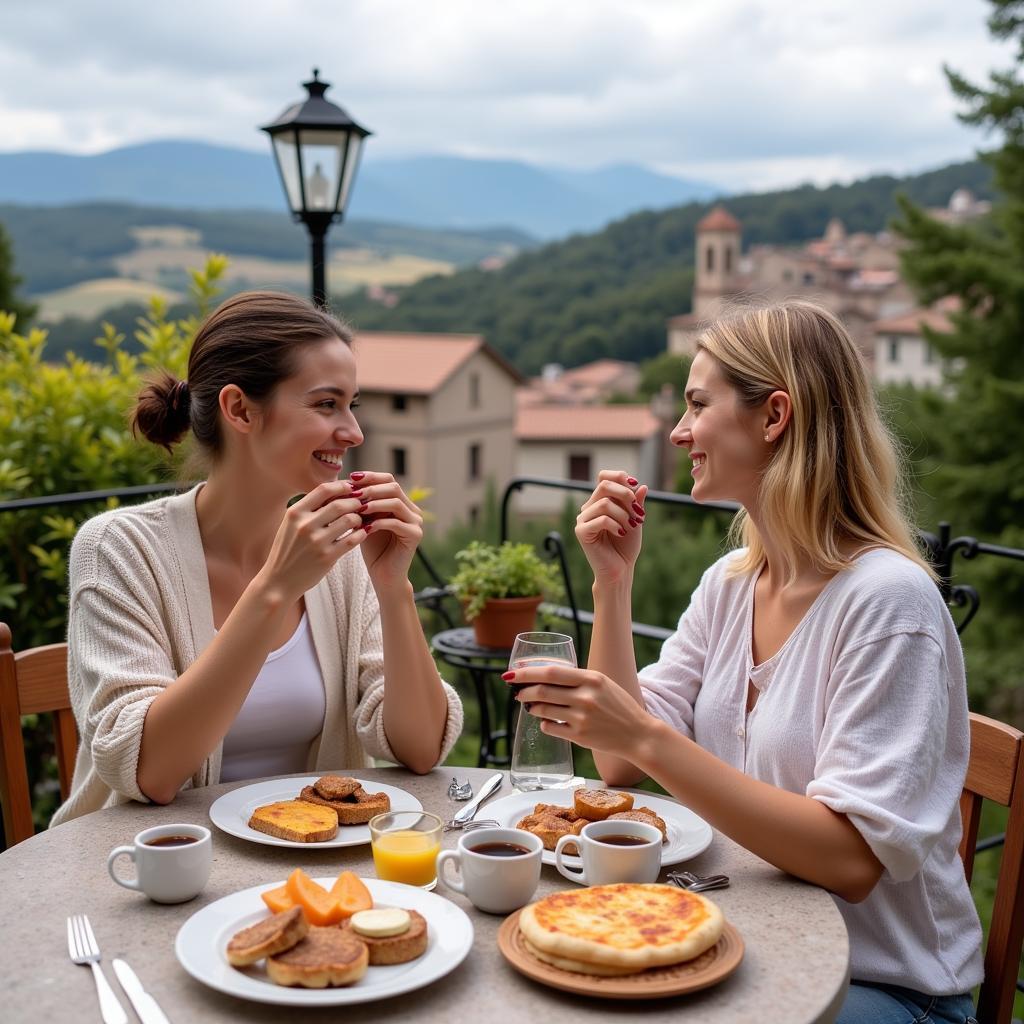
[[[647,710],[604,673],[569,666],[514,669],[502,679],[519,688],[523,711],[543,719],[541,730],[581,746],[630,760],[644,734]]]

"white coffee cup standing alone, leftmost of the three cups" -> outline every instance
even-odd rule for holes
[[[175,837],[191,842],[173,844],[170,841]],[[114,873],[114,861],[122,854],[134,862],[134,879]],[[131,846],[119,846],[106,858],[106,870],[119,886],[143,892],[157,903],[183,903],[198,896],[210,878],[212,866],[213,841],[210,829],[203,825],[145,828]]]

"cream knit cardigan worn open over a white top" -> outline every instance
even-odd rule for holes
[[[51,824],[128,800],[138,787],[150,705],[214,637],[206,557],[196,516],[202,484],[183,495],[104,512],[86,522],[69,565],[68,681],[80,742],[72,792]],[[305,594],[324,676],[324,730],[307,768],[397,761],[384,733],[380,608],[361,555],[341,558]],[[462,730],[462,703],[442,684],[447,722],[438,763]],[[185,787],[220,778],[221,744]]]

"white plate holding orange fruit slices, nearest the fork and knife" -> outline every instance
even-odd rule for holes
[[[315,881],[330,888],[335,879]],[[473,945],[473,924],[455,903],[399,882],[362,881],[375,906],[400,906],[419,910],[426,918],[427,951],[422,956],[408,964],[368,968],[354,985],[342,988],[286,988],[267,978],[262,963],[231,967],[224,955],[231,936],[269,916],[260,893],[283,886],[284,881],[243,889],[197,910],[178,931],[174,953],[178,963],[204,985],[243,999],[293,1007],[370,1002],[411,992],[442,978],[465,959]]]

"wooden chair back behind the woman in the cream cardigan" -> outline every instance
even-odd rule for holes
[[[78,728],[68,695],[68,645],[14,653],[10,629],[0,623],[0,805],[8,847],[35,835],[22,718],[53,714],[60,799],[68,799],[78,753]]]

